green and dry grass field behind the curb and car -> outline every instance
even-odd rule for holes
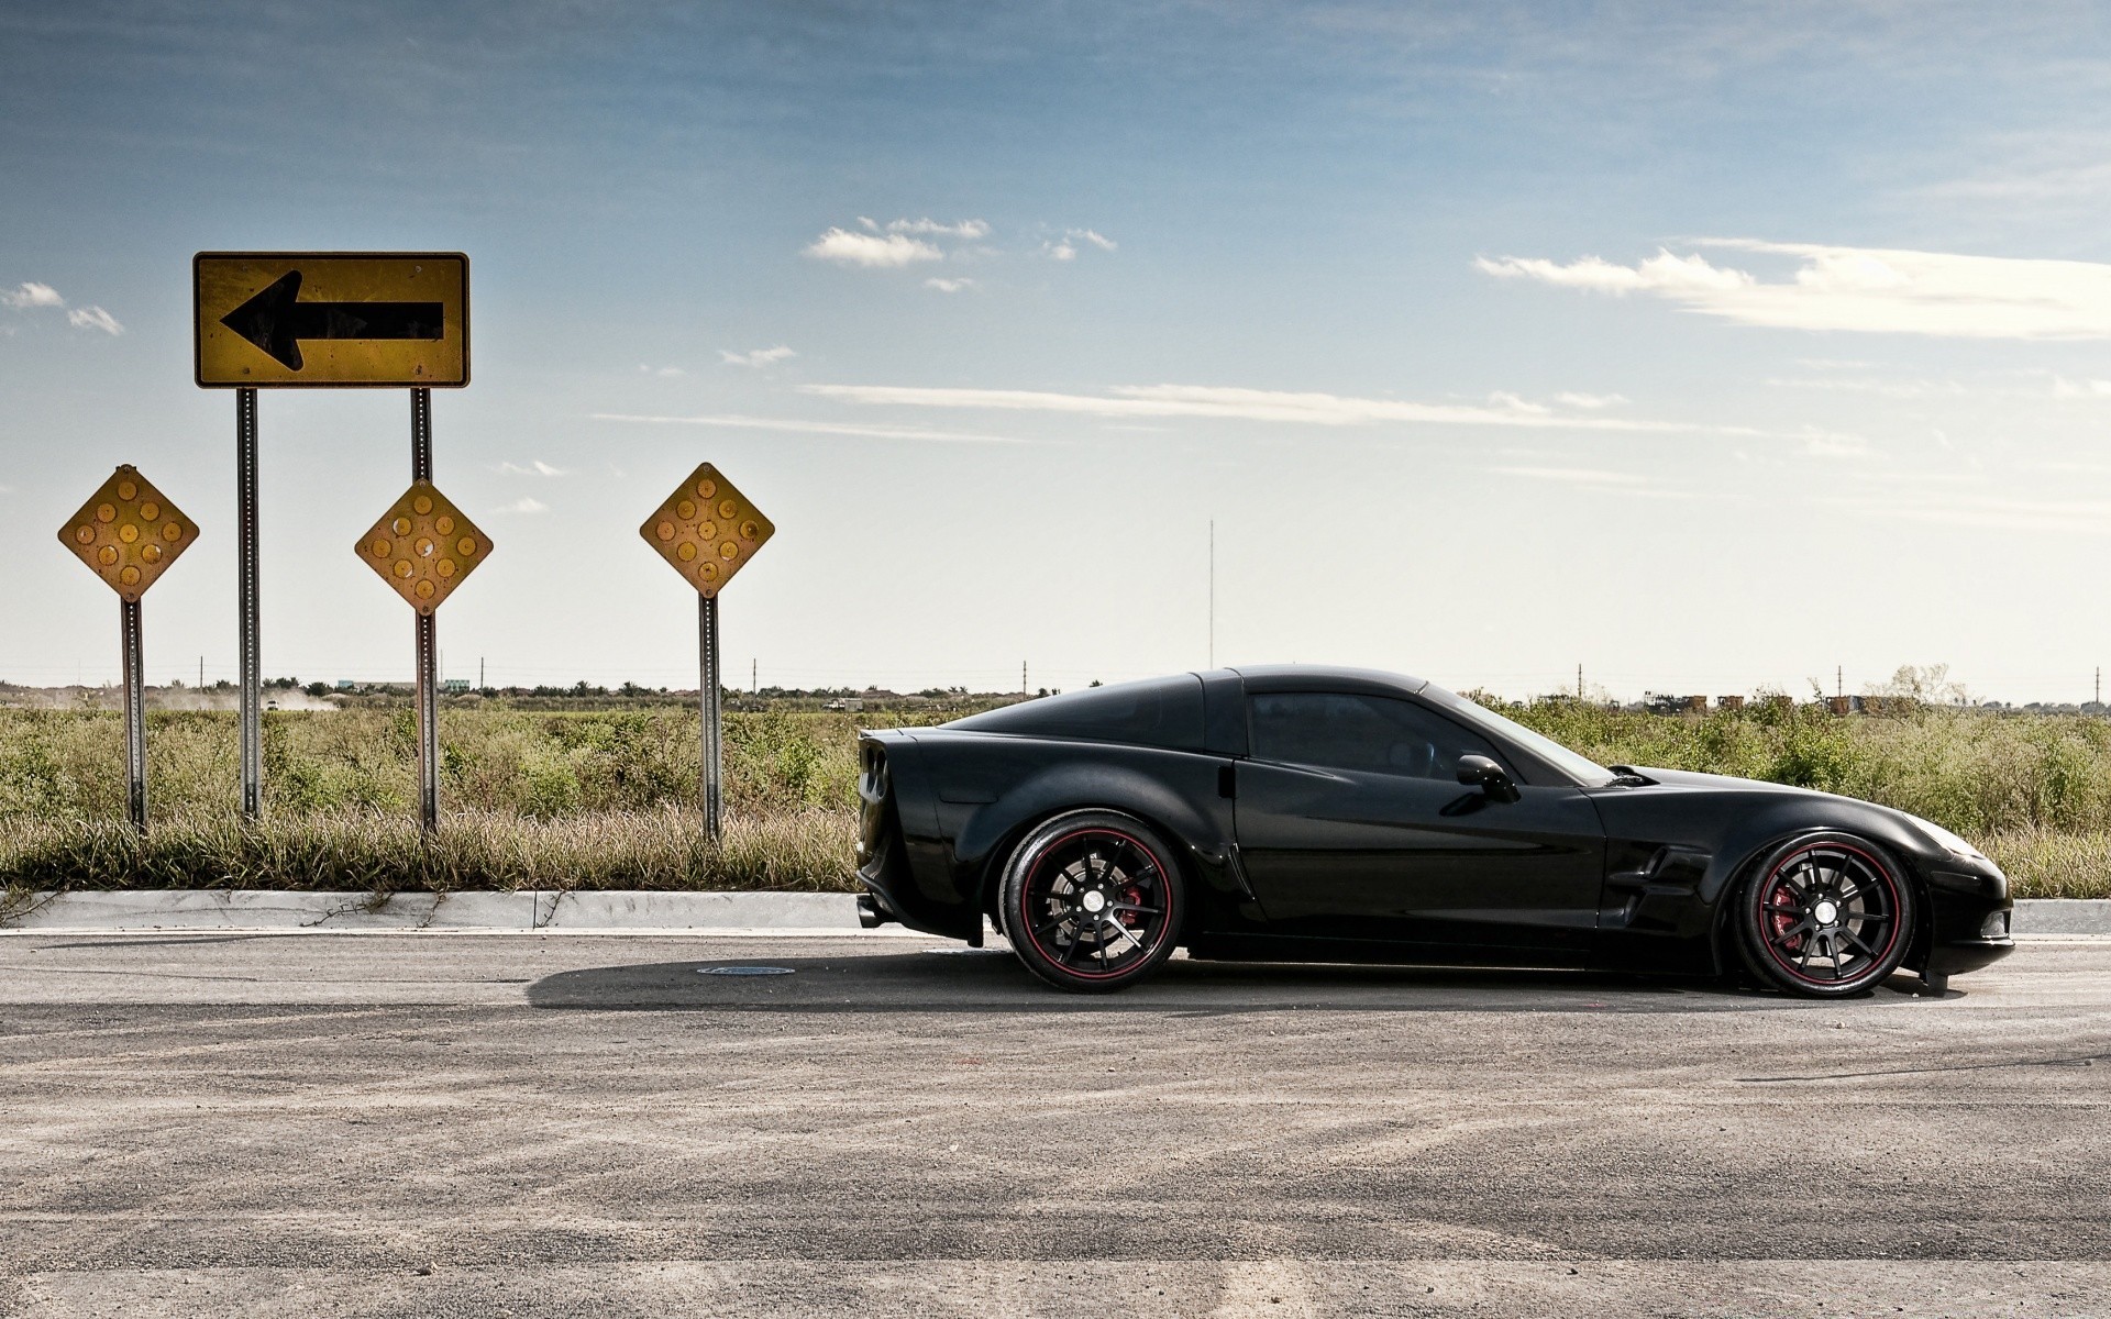
[[[1712,770],[1900,806],[1978,842],[2024,897],[2111,897],[2111,722],[1807,705],[1649,715],[1503,707],[1604,762]],[[954,711],[956,713],[956,711]],[[236,813],[234,715],[148,715],[154,827],[125,823],[122,724],[0,709],[0,882],[253,888],[849,888],[857,728],[950,715],[743,711],[726,720],[726,838],[699,834],[697,718],[671,705],[441,715],[448,819],[414,823],[403,709],[274,711],[266,815]]]

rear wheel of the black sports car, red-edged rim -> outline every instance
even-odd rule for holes
[[[1184,916],[1174,850],[1117,810],[1060,815],[1005,863],[999,916],[1026,969],[1079,994],[1121,990],[1172,956]]]

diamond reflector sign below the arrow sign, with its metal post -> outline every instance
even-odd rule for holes
[[[424,399],[420,401],[420,395]],[[412,393],[412,471],[433,471],[433,399]],[[418,610],[418,823],[439,827],[439,675],[433,614],[462,578],[492,557],[492,538],[469,521],[431,479],[416,477],[403,498],[359,538],[355,553]]]

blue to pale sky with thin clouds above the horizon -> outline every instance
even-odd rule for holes
[[[711,460],[777,523],[737,686],[2084,701],[2105,15],[6,0],[0,680],[116,680],[57,530],[120,462],[203,528],[148,677],[234,677],[190,257],[342,249],[471,257],[456,677],[695,686],[638,528]],[[407,426],[264,393],[266,675],[410,677]]]

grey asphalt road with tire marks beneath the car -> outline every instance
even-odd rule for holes
[[[2111,1313],[2111,941],[1843,1005],[931,945],[0,937],[0,1313]]]

